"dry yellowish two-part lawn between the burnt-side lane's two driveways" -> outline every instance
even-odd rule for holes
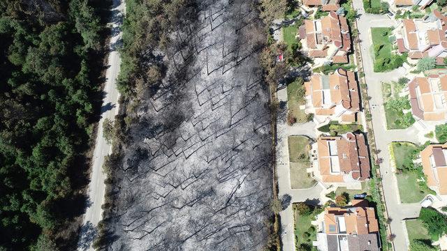
[[[292,189],[311,188],[316,181],[306,171],[310,167],[310,140],[305,136],[289,136],[287,141]]]

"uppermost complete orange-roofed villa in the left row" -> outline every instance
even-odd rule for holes
[[[302,45],[313,58],[323,58],[333,63],[348,63],[351,36],[346,17],[331,11],[319,20],[305,20],[300,26]]]

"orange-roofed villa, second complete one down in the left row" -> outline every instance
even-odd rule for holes
[[[314,74],[309,82],[305,82],[305,89],[305,112],[315,114],[317,121],[356,121],[360,94],[353,72],[339,68],[331,75]]]

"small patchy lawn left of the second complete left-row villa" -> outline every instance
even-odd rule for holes
[[[300,81],[293,81],[287,85],[288,112],[296,118],[297,123],[307,122],[307,114],[300,105],[305,105],[305,86]]]

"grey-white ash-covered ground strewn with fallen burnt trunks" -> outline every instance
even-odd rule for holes
[[[124,146],[108,250],[262,250],[272,199],[265,40],[250,1],[198,3]]]

